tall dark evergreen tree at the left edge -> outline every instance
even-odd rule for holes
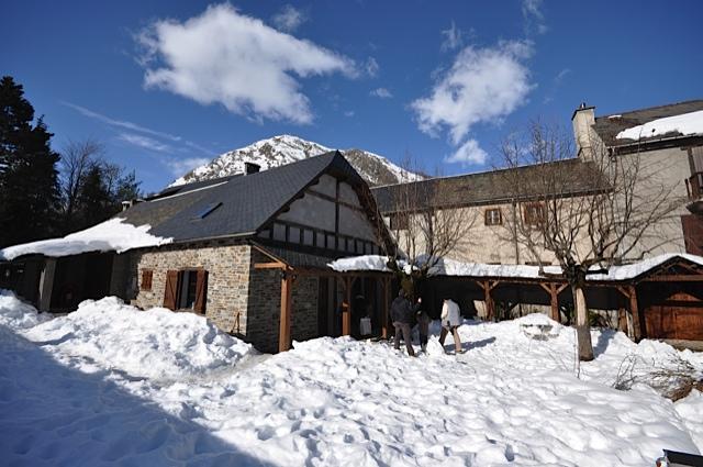
[[[59,191],[53,136],[12,77],[0,80],[0,247],[55,233]]]

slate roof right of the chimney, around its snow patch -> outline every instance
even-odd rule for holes
[[[667,105],[650,107],[648,109],[639,109],[629,112],[614,113],[611,115],[602,115],[595,118],[593,129],[603,140],[606,146],[622,146],[632,144],[633,140],[616,140],[617,133],[633,126],[643,125],[652,120],[663,119],[667,116],[680,115],[682,113],[698,112],[703,110],[703,100],[691,100],[685,102],[670,103]],[[617,116],[620,115],[620,116]],[[680,133],[671,133],[668,135],[657,135],[650,138],[643,137],[640,142],[657,141],[669,136],[677,136]]]

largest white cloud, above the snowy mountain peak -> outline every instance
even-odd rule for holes
[[[255,120],[310,123],[310,100],[298,78],[357,75],[354,62],[237,12],[209,7],[183,23],[159,20],[137,37],[147,88],[202,104],[221,103]]]

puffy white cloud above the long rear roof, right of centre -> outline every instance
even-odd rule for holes
[[[456,146],[479,122],[500,122],[520,105],[534,88],[526,60],[528,42],[500,42],[494,47],[466,47],[451,67],[440,73],[429,96],[411,108],[421,131],[431,135],[447,129]]]

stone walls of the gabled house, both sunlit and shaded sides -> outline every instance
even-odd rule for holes
[[[203,268],[208,270],[205,315],[222,331],[244,338],[257,349],[278,352],[281,271],[255,269],[256,263],[270,263],[270,258],[245,244],[135,252],[131,262],[132,304],[142,309],[163,307],[168,270]],[[145,269],[153,271],[152,290],[140,290]],[[292,299],[292,338],[317,337],[317,278],[297,278]]]

